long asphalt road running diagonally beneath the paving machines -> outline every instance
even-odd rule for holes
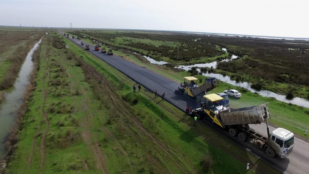
[[[150,91],[158,91],[158,95],[161,96],[163,92],[165,92],[166,101],[175,105],[177,108],[182,111],[185,110],[187,106],[193,108],[199,108],[200,104],[193,98],[185,95],[176,95],[174,93],[175,89],[180,86],[180,82],[176,83],[166,77],[156,74],[151,70],[148,70],[145,67],[138,66],[132,62],[129,62],[121,57],[115,55],[108,55],[107,53],[101,53],[101,49],[99,51],[94,50],[94,46],[87,44],[84,42],[84,45],[81,45],[81,40],[69,38],[72,42],[77,45],[85,48],[85,45],[90,46],[89,52],[94,54],[99,59],[107,62],[109,65],[113,66],[117,70],[121,71],[123,74],[127,75],[133,81],[141,84],[145,88]],[[133,84],[132,84],[133,87]],[[133,89],[132,89],[133,91]],[[153,96],[154,97],[154,96]],[[166,102],[162,101],[162,102]],[[270,111],[271,112],[271,111]],[[231,137],[227,131],[224,131],[208,121],[200,121],[201,124],[204,124],[210,128],[212,128],[215,132],[223,134],[226,139],[231,142],[234,142],[241,148],[247,149],[250,153],[255,155],[257,158],[263,160],[265,163],[268,163],[273,168],[277,169],[282,173],[293,173],[293,174],[302,174],[309,173],[309,143],[304,142],[298,138],[295,138],[295,144],[293,148],[293,152],[288,156],[287,159],[279,159],[279,158],[270,158],[268,157],[260,148],[252,145],[249,142],[240,142],[236,137]],[[255,131],[267,135],[266,125],[250,125],[252,129]],[[275,128],[270,127],[270,131]],[[266,133],[265,133],[266,132]],[[248,159],[247,156],[243,157],[244,159]],[[249,163],[249,159],[248,159]],[[250,164],[252,165],[252,164]],[[259,164],[254,164],[259,168]],[[245,168],[245,166],[244,166]]]

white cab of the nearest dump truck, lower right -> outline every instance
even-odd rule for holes
[[[273,151],[266,150],[267,155],[286,158],[293,150],[294,134],[284,128],[277,128],[270,134],[268,146]]]

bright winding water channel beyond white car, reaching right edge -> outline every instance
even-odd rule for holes
[[[191,67],[193,67],[193,65]],[[178,66],[178,67],[175,67],[175,68],[181,68],[183,70],[188,71],[188,70],[191,69],[191,67],[189,67],[189,66]],[[198,68],[197,68],[197,71],[201,72],[201,70],[198,69]],[[251,88],[250,83],[236,82],[235,80],[231,80],[230,77],[228,77],[228,76],[223,76],[221,74],[214,74],[214,73],[208,73],[208,72],[202,73],[202,75],[209,76],[209,77],[215,77],[216,79],[219,79],[219,80],[221,80],[225,83],[230,83],[234,86],[246,88],[251,92],[256,92],[257,94],[262,95],[263,97],[273,97],[273,98],[275,98],[276,100],[279,100],[279,101],[283,101],[283,102],[291,103],[291,104],[296,104],[298,106],[309,108],[309,101],[306,100],[306,99],[303,99],[303,98],[295,97],[295,98],[293,98],[293,100],[287,100],[285,95],[276,94],[272,91],[267,91],[267,90],[256,91],[255,89]]]

